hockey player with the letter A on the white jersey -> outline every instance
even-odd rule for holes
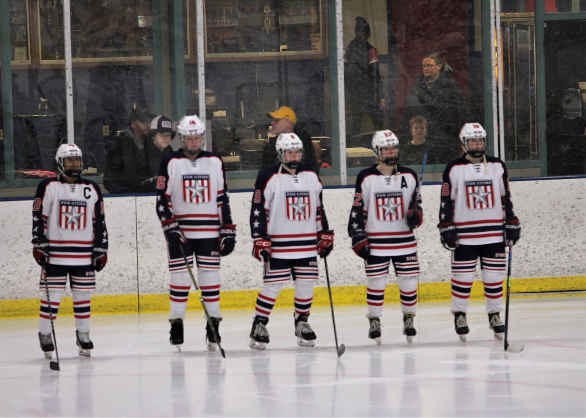
[[[374,132],[372,148],[379,163],[358,174],[348,222],[352,248],[364,259],[366,269],[368,336],[380,344],[380,317],[392,262],[403,312],[403,334],[412,342],[417,334],[413,317],[419,275],[413,229],[423,222],[421,197],[415,201],[419,187],[417,174],[398,165],[399,141],[392,131]]]

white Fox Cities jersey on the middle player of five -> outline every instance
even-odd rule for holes
[[[317,232],[328,228],[318,175],[299,166],[297,173],[280,165],[258,174],[250,208],[253,238],[269,237],[273,258],[315,257]]]

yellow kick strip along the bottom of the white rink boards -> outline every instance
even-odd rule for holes
[[[472,286],[470,299],[478,300],[484,297],[483,287],[478,280]],[[505,283],[506,284],[506,283]],[[567,277],[536,277],[532,279],[512,279],[511,293],[514,297],[561,296],[546,292],[569,292],[563,296],[571,296],[572,292],[586,290],[586,276]],[[281,290],[275,307],[293,306],[292,288]],[[450,282],[420,283],[419,301],[449,301]],[[532,293],[530,296],[524,293]],[[220,307],[222,309],[250,309],[254,310],[254,304],[258,294],[255,290],[226,290],[222,292]],[[366,304],[366,286],[335,286],[332,287],[332,299],[334,305],[361,305]],[[398,303],[399,294],[396,283],[387,285],[384,294],[385,303]],[[91,297],[91,313],[141,313],[165,312],[169,310],[169,295],[162,294],[115,294]],[[329,306],[328,288],[315,287],[313,306]],[[64,297],[59,306],[59,315],[73,314],[71,297]],[[188,301],[188,310],[202,310],[202,306],[196,294]],[[0,318],[32,317],[39,314],[39,299],[15,299],[0,300]]]

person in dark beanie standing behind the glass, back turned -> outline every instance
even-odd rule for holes
[[[346,118],[350,122],[349,146],[370,146],[372,132],[360,135],[362,119],[368,115],[374,131],[383,126],[383,109],[387,106],[380,82],[379,56],[368,39],[370,25],[362,16],[356,16],[356,37],[350,41],[344,54],[344,84],[346,89]]]

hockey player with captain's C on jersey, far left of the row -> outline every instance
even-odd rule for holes
[[[94,348],[90,340],[90,299],[96,289],[96,272],[108,260],[108,232],[100,187],[80,177],[83,169],[81,150],[63,144],[55,155],[58,176],[39,183],[33,202],[33,256],[42,266],[39,313],[40,348],[45,357],[54,351],[49,309],[53,319],[69,275],[76,344],[79,354],[89,356]],[[45,280],[51,303],[47,303]]]

